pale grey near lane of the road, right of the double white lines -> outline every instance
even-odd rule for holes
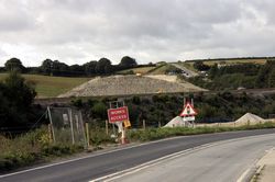
[[[178,155],[142,170],[108,179],[112,182],[237,182],[265,151],[275,146],[275,134],[227,140]],[[254,167],[255,169],[255,167]]]

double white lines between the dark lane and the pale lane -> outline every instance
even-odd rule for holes
[[[274,135],[274,134],[266,134],[266,135]],[[266,136],[266,135],[260,135],[260,136]],[[156,166],[156,164],[163,162],[164,160],[170,160],[170,159],[184,156],[184,155],[196,152],[196,151],[199,151],[199,150],[202,150],[202,149],[206,149],[206,148],[210,148],[210,147],[213,147],[213,146],[222,145],[222,144],[226,144],[226,143],[233,143],[233,141],[244,140],[244,139],[250,139],[250,138],[257,138],[260,136],[249,136],[249,137],[227,139],[227,140],[222,140],[222,141],[215,141],[215,143],[210,143],[210,144],[200,145],[200,146],[197,146],[197,147],[194,147],[194,148],[190,148],[190,149],[186,149],[186,150],[183,150],[183,151],[179,151],[179,152],[175,152],[175,153],[172,153],[172,155],[164,156],[164,157],[155,159],[155,160],[151,160],[148,162],[139,164],[139,166],[130,168],[130,169],[125,169],[125,170],[122,170],[122,171],[119,171],[119,172],[116,172],[116,173],[111,173],[109,175],[105,175],[105,177],[91,180],[89,182],[101,182],[101,181],[109,182],[109,181],[120,179],[122,177],[135,173],[138,171],[143,170],[143,169]],[[246,170],[246,171],[250,172],[250,169]],[[246,174],[244,177],[246,177]]]

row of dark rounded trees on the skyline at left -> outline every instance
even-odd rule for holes
[[[84,65],[72,65],[68,66],[65,62],[58,60],[45,59],[40,67],[25,68],[21,60],[18,58],[11,58],[4,64],[2,71],[16,70],[24,73],[41,73],[51,76],[96,76],[96,75],[110,75],[122,69],[129,69],[138,67],[138,62],[134,58],[124,56],[120,64],[112,65],[108,58],[100,58],[91,60]]]

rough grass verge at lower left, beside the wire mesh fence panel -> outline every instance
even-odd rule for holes
[[[0,173],[82,150],[81,146],[51,144],[46,127],[15,138],[0,136]]]

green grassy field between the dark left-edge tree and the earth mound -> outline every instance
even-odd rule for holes
[[[0,73],[0,81],[7,77],[7,73]],[[38,75],[23,75],[23,77],[36,84],[37,98],[54,98],[61,93],[90,80],[90,78],[69,78],[69,77],[50,77]]]

